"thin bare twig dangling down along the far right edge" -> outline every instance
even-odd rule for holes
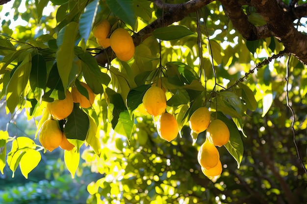
[[[305,174],[307,174],[307,169],[306,169],[306,167],[305,167],[305,165],[304,165],[303,160],[302,160],[301,157],[300,157],[299,148],[298,148],[298,146],[297,146],[297,144],[296,144],[296,140],[295,140],[295,130],[294,130],[295,114],[294,114],[294,111],[293,111],[293,109],[292,109],[292,107],[291,107],[291,105],[290,105],[290,103],[289,103],[289,95],[288,95],[289,90],[288,90],[288,85],[289,85],[289,67],[290,67],[290,59],[291,59],[291,56],[292,56],[292,55],[290,54],[289,59],[288,59],[288,63],[287,63],[286,76],[285,76],[285,79],[286,79],[286,81],[287,81],[287,83],[286,83],[286,102],[287,102],[287,107],[288,107],[289,110],[291,111],[292,118],[293,118],[293,119],[292,119],[292,122],[291,122],[291,129],[292,129],[293,143],[294,143],[294,145],[295,145],[297,157],[298,157],[298,159],[300,160],[300,163],[301,163],[302,166],[303,166],[303,169],[304,169],[304,171],[305,171]]]

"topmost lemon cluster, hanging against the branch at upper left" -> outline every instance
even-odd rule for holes
[[[130,60],[134,55],[134,43],[129,32],[124,28],[115,29],[110,38],[107,38],[111,31],[111,25],[107,20],[102,20],[94,26],[93,34],[96,41],[103,48],[111,46],[118,59]]]

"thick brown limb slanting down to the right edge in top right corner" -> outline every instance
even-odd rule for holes
[[[286,51],[307,64],[307,36],[295,29],[291,13],[284,11],[276,0],[252,0],[252,5]]]

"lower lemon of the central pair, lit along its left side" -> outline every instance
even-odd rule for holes
[[[170,142],[178,135],[178,123],[174,115],[162,113],[157,126],[158,134],[166,141]]]

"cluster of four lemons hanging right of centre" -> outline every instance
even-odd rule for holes
[[[206,130],[206,140],[198,152],[198,162],[205,176],[211,178],[222,173],[222,163],[219,151],[215,146],[221,147],[230,139],[227,125],[220,119],[211,121],[211,115],[206,107],[198,108],[189,119],[192,132],[199,134]]]

